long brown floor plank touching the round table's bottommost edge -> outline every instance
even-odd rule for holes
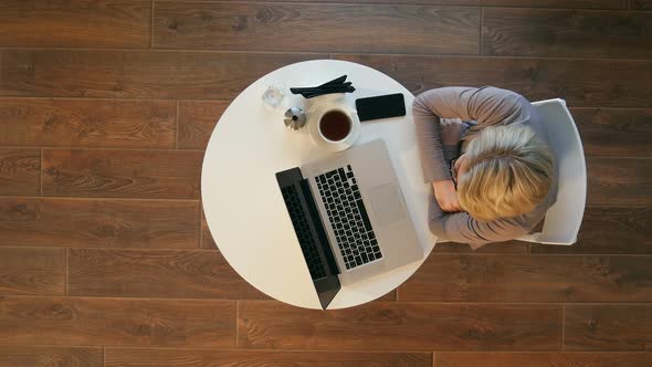
[[[374,302],[322,312],[273,301],[239,303],[238,346],[273,349],[554,350],[555,305]]]

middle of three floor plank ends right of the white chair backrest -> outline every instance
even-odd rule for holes
[[[588,206],[652,206],[652,159],[587,157]]]

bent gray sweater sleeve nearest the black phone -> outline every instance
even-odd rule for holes
[[[524,103],[527,101],[517,93],[492,86],[443,87],[420,94],[414,98],[412,116],[425,181],[451,179],[443,156],[440,118],[475,120],[482,128],[523,114]]]

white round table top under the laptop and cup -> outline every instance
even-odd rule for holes
[[[404,117],[362,123],[356,144],[376,138],[387,143],[406,203],[424,253],[437,238],[428,228],[431,189],[424,184],[411,115],[413,95],[398,82],[374,69],[351,62],[317,60],[278,69],[251,84],[227,108],[210,138],[201,172],[201,196],[206,219],[229,264],[251,285],[278,301],[320,308],[317,293],[302,255],[275,174],[298,167],[329,153],[316,147],[307,126],[291,132],[283,113],[291,106],[307,111],[305,99],[288,93],[290,86],[315,86],[348,75],[357,88],[343,101],[355,108],[359,97],[403,93]],[[285,90],[277,108],[261,96],[269,86]],[[329,310],[356,306],[392,291],[419,269],[422,261],[408,264],[340,290]]]

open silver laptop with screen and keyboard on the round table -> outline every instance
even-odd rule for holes
[[[326,310],[341,286],[423,259],[383,140],[276,174]]]

